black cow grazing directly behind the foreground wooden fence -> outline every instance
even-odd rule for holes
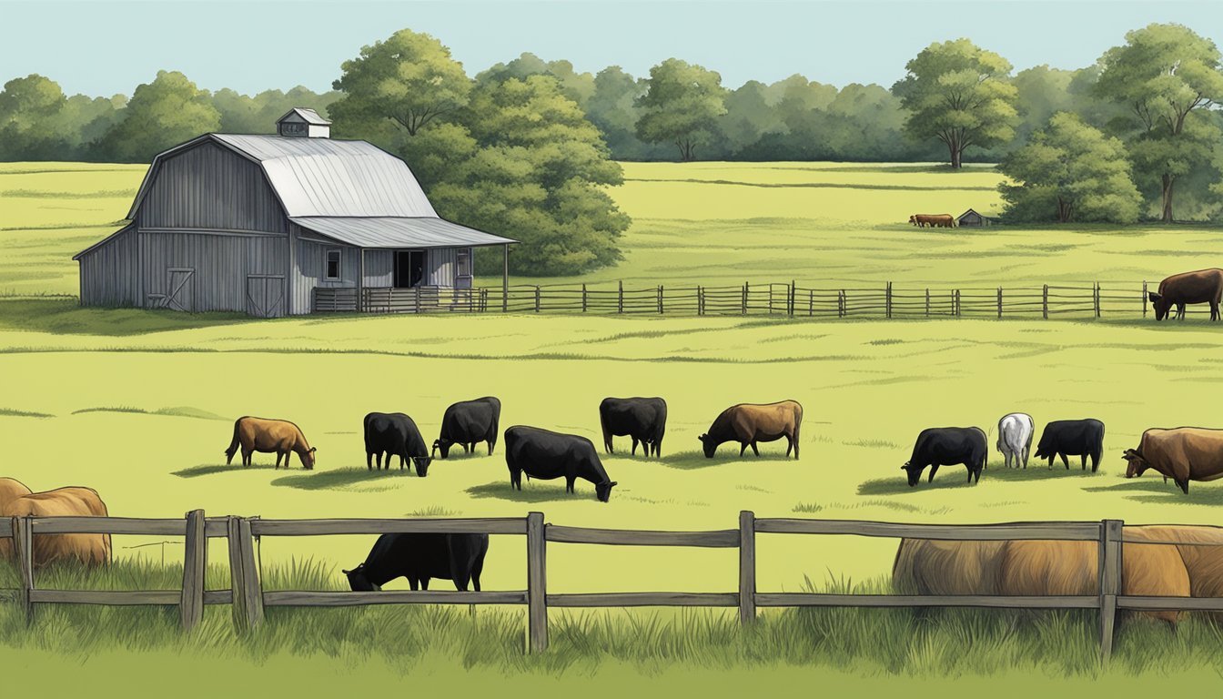
[[[399,577],[413,590],[428,590],[429,578],[438,578],[464,592],[471,581],[478,592],[486,553],[487,534],[383,534],[366,562],[344,574],[355,592],[382,590]]]

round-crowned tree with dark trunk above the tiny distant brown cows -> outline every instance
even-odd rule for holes
[[[953,168],[970,146],[989,148],[1015,136],[1016,89],[1007,59],[956,39],[931,44],[905,69],[909,75],[892,88],[909,111],[905,131],[942,141]]]

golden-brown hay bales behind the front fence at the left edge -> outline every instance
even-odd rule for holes
[[[106,517],[106,503],[87,487],[31,492],[12,479],[0,479],[0,517]],[[110,562],[109,534],[35,534],[34,567],[77,561],[86,566]],[[0,559],[13,557],[12,539],[0,539]]]

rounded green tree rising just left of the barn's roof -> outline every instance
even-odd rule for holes
[[[208,91],[177,71],[159,71],[153,82],[138,86],[120,116],[98,149],[124,163],[148,163],[176,143],[218,131],[221,124]]]

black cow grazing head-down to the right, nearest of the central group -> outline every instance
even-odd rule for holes
[[[594,484],[599,502],[612,497],[616,481],[608,479],[594,444],[586,437],[561,435],[539,427],[515,425],[505,431],[505,464],[510,468],[510,486],[522,490],[522,473],[528,479],[565,479],[565,492],[574,492],[574,481]]]

